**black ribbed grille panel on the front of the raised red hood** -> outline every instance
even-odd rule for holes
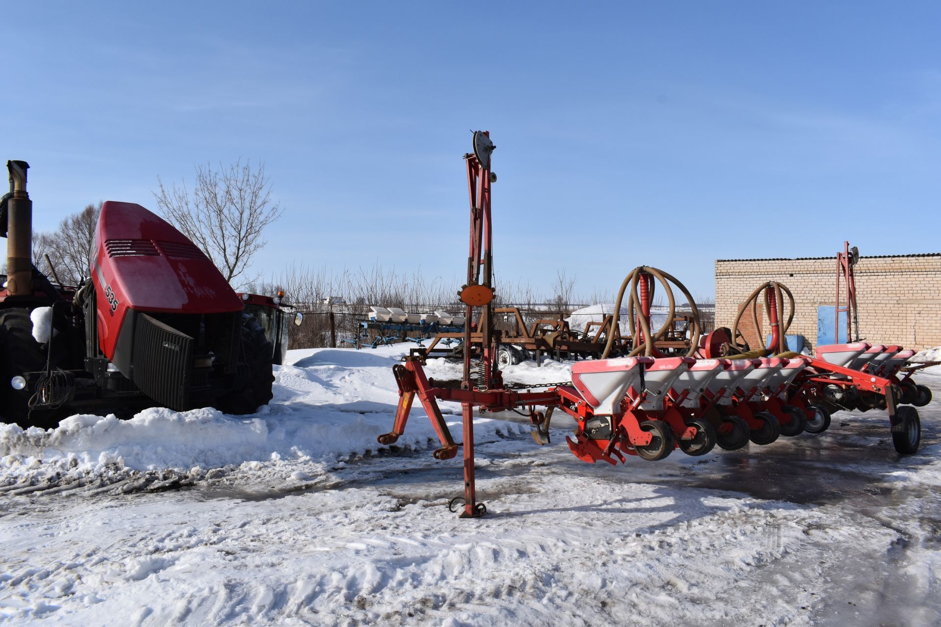
[[[193,338],[144,313],[134,334],[134,383],[172,410],[189,409]]]

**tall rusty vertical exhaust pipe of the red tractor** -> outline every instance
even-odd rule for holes
[[[33,294],[33,201],[26,193],[24,161],[8,161],[7,292],[10,296]]]

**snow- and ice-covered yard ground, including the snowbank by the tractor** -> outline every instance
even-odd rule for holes
[[[561,415],[550,447],[482,418],[489,513],[460,520],[461,462],[431,457],[418,403],[403,448],[375,445],[406,348],[295,352],[258,415],[0,426],[0,622],[941,624],[938,402],[914,457],[885,413],[841,413],[819,436],[616,468],[575,459]],[[941,376],[919,380],[941,398]]]

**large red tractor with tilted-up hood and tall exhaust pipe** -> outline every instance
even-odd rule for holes
[[[249,414],[271,400],[272,344],[196,245],[140,205],[108,201],[91,278],[59,290],[31,259],[29,165],[7,167],[0,420],[49,427],[65,415],[151,406]]]

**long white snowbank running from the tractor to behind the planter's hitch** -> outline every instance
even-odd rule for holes
[[[324,349],[293,355],[295,365],[276,367],[275,398],[255,415],[212,409],[174,412],[147,409],[130,420],[114,415],[72,415],[58,428],[23,430],[0,423],[0,482],[96,476],[127,471],[217,468],[281,459],[325,460],[361,455],[381,447],[376,436],[391,431],[398,388],[391,366],[407,349]],[[516,378],[533,370],[533,383],[567,380],[558,362],[544,368],[514,367]],[[429,376],[459,378],[460,366],[432,360]],[[542,377],[542,379],[540,379]],[[512,377],[509,377],[511,378]],[[461,441],[460,406],[442,403],[455,442]],[[479,418],[481,440],[527,428]],[[415,403],[398,447],[438,446],[431,423]]]

